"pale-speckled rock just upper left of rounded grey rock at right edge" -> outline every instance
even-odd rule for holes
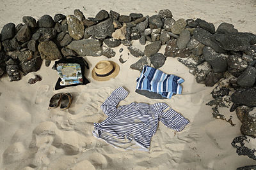
[[[248,67],[246,61],[242,60],[241,57],[237,55],[229,55],[227,58],[228,66],[232,69],[236,69],[237,71],[243,71]]]

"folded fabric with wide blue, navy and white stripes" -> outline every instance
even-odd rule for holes
[[[144,66],[140,78],[137,78],[138,90],[148,90],[155,92],[163,97],[171,99],[173,94],[181,94],[184,80],[172,74],[163,73],[159,69]]]

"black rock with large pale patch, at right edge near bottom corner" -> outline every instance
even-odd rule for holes
[[[232,141],[231,145],[236,148],[238,155],[246,155],[256,160],[255,140],[250,136],[238,136]]]

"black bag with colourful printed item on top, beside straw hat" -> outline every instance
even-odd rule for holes
[[[89,64],[83,57],[68,56],[56,61],[54,67],[60,76],[55,85],[55,90],[90,83],[84,76],[84,67],[89,69]]]

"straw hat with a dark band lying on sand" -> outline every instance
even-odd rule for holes
[[[116,62],[102,60],[92,70],[92,78],[97,81],[107,81],[119,73],[119,66]]]

